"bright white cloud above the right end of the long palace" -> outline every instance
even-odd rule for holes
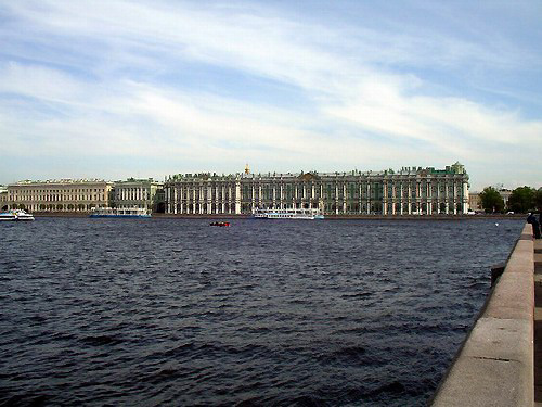
[[[542,139],[542,120],[526,120],[516,111],[467,99],[416,94],[385,77],[362,81],[352,93],[356,96],[344,98],[343,105],[328,105],[324,112],[362,129],[427,142],[463,157],[479,155],[473,142],[506,148]]]

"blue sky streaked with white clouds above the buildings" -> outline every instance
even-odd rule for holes
[[[542,1],[0,0],[0,183],[465,165],[542,186]]]

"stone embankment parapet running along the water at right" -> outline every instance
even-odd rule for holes
[[[526,225],[430,405],[534,405],[534,247]],[[528,238],[530,237],[530,239]]]

